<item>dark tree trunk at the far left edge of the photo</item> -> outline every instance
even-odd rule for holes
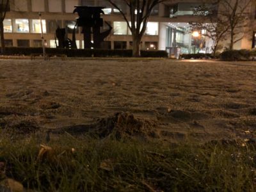
[[[6,12],[10,10],[10,1],[9,0],[0,0],[0,41],[1,41],[1,52],[5,52],[4,44],[4,18]]]

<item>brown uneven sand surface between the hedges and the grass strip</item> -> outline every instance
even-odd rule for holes
[[[0,90],[0,127],[21,132],[83,129],[122,112],[167,141],[256,131],[256,62],[0,60]]]

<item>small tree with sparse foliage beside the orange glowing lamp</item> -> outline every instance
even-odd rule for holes
[[[193,11],[194,15],[200,15],[202,19],[199,22],[190,23],[192,31],[205,31],[205,33],[201,33],[200,35],[207,36],[212,39],[212,52],[214,56],[216,56],[216,52],[220,49],[219,44],[221,40],[226,39],[228,31],[227,23],[217,16],[217,4],[218,2],[215,1],[212,2],[211,6],[203,4],[202,6],[196,7]]]

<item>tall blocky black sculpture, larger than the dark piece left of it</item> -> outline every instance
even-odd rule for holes
[[[112,27],[108,22],[106,24],[109,29],[100,33],[100,27],[103,26],[103,19],[100,18],[100,13],[104,12],[102,6],[75,6],[73,13],[78,13],[77,25],[82,27],[82,33],[84,34],[84,49],[99,49],[101,42],[104,41],[112,30]],[[93,31],[93,43],[91,33]]]

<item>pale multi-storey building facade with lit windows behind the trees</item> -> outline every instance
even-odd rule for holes
[[[185,0],[166,1],[152,11],[141,49],[166,50],[168,47],[180,47],[183,53],[211,52],[212,42],[204,40],[198,44],[189,31],[189,22],[197,22],[200,17],[193,15],[193,8],[205,1]],[[122,1],[116,0],[123,12],[129,13]],[[102,18],[113,26],[113,31],[104,42],[104,49],[131,49],[132,36],[122,15],[104,0],[10,0],[10,12],[4,19],[4,38],[6,46],[40,47],[41,27],[38,13],[42,13],[44,38],[47,47],[56,47],[58,41],[55,31],[67,27],[68,37],[76,25],[77,15],[72,13],[74,6],[104,6]],[[250,6],[250,30],[244,29],[243,38],[236,43],[235,49],[252,49],[256,47],[255,1]],[[218,9],[218,6],[216,7]],[[104,26],[102,30],[107,29]],[[246,31],[246,32],[245,32]],[[225,43],[225,42],[224,42]],[[76,44],[83,49],[83,34],[76,30]]]

